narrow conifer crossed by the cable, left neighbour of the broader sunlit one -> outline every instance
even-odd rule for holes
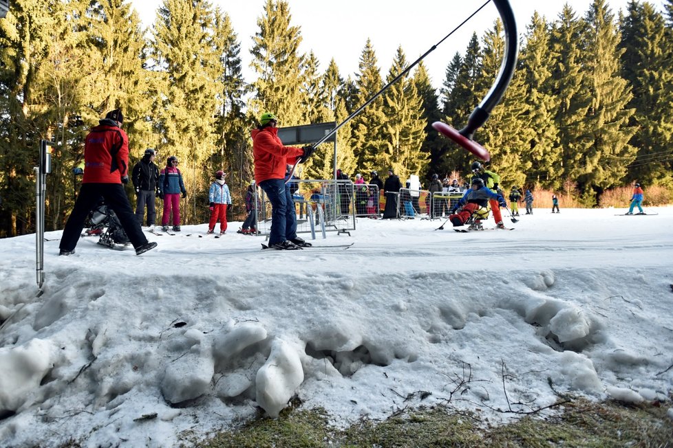
[[[355,82],[354,108],[359,108],[370,100],[383,87],[381,73],[378,71],[376,53],[372,42],[367,39],[360,56],[359,71]],[[352,120],[352,143],[357,166],[361,170],[380,170],[376,161],[386,149],[383,124],[386,121],[383,112],[383,96],[372,101]]]

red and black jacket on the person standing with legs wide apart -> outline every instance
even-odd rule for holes
[[[129,137],[112,120],[100,120],[84,144],[82,183],[122,183],[129,175]]]

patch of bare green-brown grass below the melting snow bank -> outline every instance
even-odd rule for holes
[[[289,409],[221,432],[199,447],[673,447],[667,406],[566,403],[554,416],[489,426],[445,407],[405,410],[382,422],[335,429],[323,410]]]

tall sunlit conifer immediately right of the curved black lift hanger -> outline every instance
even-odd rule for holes
[[[546,187],[562,186],[563,161],[559,146],[559,130],[554,120],[560,97],[553,94],[552,69],[556,55],[551,49],[548,24],[537,12],[528,25],[526,45],[521,52],[520,70],[526,84],[525,100],[529,110],[526,129],[530,139],[522,149],[521,168],[528,179],[539,179]]]

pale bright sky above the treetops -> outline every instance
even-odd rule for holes
[[[154,21],[155,11],[161,3],[157,0],[131,0],[149,27]],[[242,44],[244,77],[253,80],[249,69],[252,37],[259,30],[257,19],[264,10],[266,0],[212,0],[231,16],[233,27]],[[301,51],[316,54],[321,65],[327,69],[334,58],[343,78],[356,74],[359,58],[370,38],[378,65],[385,75],[392,65],[397,48],[401,45],[407,61],[412,63],[433,45],[440,42],[454,27],[472,14],[484,3],[465,1],[429,1],[414,0],[411,7],[400,8],[397,2],[390,1],[310,1],[289,0],[292,25],[301,27],[303,44]],[[533,12],[537,10],[548,20],[555,19],[561,12],[565,1],[561,0],[511,0],[517,18],[519,33],[525,32]],[[578,16],[584,16],[591,0],[569,0],[568,4]],[[652,1],[656,8],[662,9],[661,0]],[[608,5],[617,14],[619,9],[626,10],[628,0],[608,0]],[[359,14],[352,14],[358,11]],[[423,63],[427,67],[435,87],[440,87],[445,78],[445,70],[456,52],[464,54],[473,32],[478,36],[493,26],[498,11],[489,3],[471,21],[463,25],[456,34],[444,41]]]

